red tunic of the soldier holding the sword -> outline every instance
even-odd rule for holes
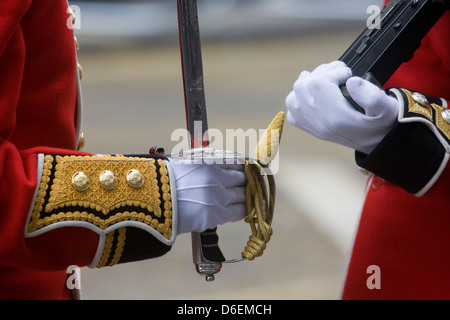
[[[70,299],[67,267],[86,266],[99,254],[95,227],[24,236],[39,187],[38,154],[90,156],[74,151],[77,63],[71,25],[66,0],[0,1],[0,299]],[[170,203],[165,205],[170,210]],[[115,260],[130,241],[150,241],[144,251],[159,246],[134,231],[127,232],[126,242],[111,233],[110,244],[120,245]],[[126,259],[142,253],[134,250]]]

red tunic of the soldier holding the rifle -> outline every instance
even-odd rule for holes
[[[387,84],[450,100],[450,13]],[[343,299],[450,299],[450,164],[423,196],[369,181]],[[378,274],[370,266],[378,266]],[[378,279],[369,277],[377,276]],[[367,281],[369,280],[369,285]],[[378,281],[380,288],[371,284]]]

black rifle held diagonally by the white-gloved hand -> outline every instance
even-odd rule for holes
[[[379,24],[367,27],[339,59],[354,76],[382,87],[403,62],[409,61],[422,39],[450,8],[449,0],[391,0],[377,17]],[[356,110],[345,86],[343,95]]]

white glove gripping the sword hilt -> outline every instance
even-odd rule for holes
[[[178,234],[203,232],[246,216],[244,165],[171,160],[178,206]]]

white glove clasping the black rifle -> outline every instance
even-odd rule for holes
[[[362,114],[342,95],[361,106]],[[345,63],[334,61],[303,71],[286,98],[287,120],[312,135],[369,154],[393,127],[398,102],[374,84],[352,77]]]

